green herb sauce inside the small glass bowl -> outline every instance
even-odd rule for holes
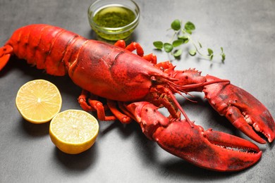
[[[135,13],[123,6],[102,8],[94,15],[94,23],[102,27],[123,27],[135,20]]]

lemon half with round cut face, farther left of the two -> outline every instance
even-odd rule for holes
[[[20,87],[16,107],[23,118],[32,123],[48,122],[61,109],[59,89],[46,80],[32,80]]]

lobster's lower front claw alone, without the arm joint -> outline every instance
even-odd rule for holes
[[[257,163],[262,151],[252,142],[224,132],[191,127],[185,120],[159,127],[153,138],[162,149],[215,171],[239,171]]]

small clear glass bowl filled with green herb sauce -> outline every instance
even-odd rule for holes
[[[140,8],[132,0],[97,0],[88,9],[88,19],[99,37],[127,39],[138,26]]]

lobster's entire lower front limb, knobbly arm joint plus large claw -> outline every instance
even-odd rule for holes
[[[186,120],[169,120],[149,102],[124,106],[147,138],[162,149],[201,168],[238,171],[257,163],[262,151],[250,141],[224,132],[204,131]]]

